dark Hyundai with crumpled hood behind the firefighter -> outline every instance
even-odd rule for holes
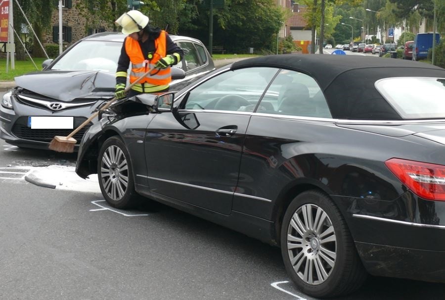
[[[17,87],[6,93],[1,103],[0,138],[19,147],[47,149],[54,136],[67,136],[82,124],[114,96],[117,61],[125,37],[115,32],[91,35],[55,60],[45,60],[43,71],[16,77]],[[172,81],[171,90],[180,90],[215,69],[209,52],[199,40],[170,37],[185,52],[184,58],[172,68],[175,74],[182,72],[178,68],[185,71],[185,78]],[[180,77],[175,75],[175,78]],[[33,126],[32,121],[37,124],[42,117],[51,117],[51,124]],[[90,125],[74,136],[78,142]]]

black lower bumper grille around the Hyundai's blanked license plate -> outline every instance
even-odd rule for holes
[[[74,117],[74,128],[80,126],[86,119],[85,117]],[[76,144],[80,143],[85,132],[91,125],[92,123],[90,122],[73,136],[77,141]],[[51,142],[54,136],[66,137],[73,130],[74,129],[31,129],[31,127],[28,127],[28,117],[18,118],[12,127],[12,133],[20,139],[47,143]]]

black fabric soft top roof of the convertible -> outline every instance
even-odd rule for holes
[[[380,79],[445,78],[445,69],[423,62],[361,55],[269,55],[234,62],[231,69],[248,66],[283,68],[310,75],[320,86],[332,117],[355,120],[402,119],[375,88]]]

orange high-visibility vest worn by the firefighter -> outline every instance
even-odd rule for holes
[[[130,57],[130,61],[132,62],[130,83],[134,83],[150,68],[154,68],[156,62],[159,59],[165,57],[167,53],[166,41],[166,33],[164,30],[162,30],[159,37],[154,41],[156,52],[153,53],[153,58],[151,60],[148,60],[148,57],[144,57],[138,41],[131,38],[127,38],[125,40],[125,51],[127,52],[128,56]],[[165,69],[154,69],[151,74],[152,75],[146,76],[145,78],[140,80],[138,84],[135,85],[135,87],[141,85],[142,83],[149,83],[150,85],[156,86],[168,85],[172,81],[170,67],[167,67]]]

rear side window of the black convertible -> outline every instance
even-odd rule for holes
[[[309,75],[289,70],[281,70],[276,76],[257,112],[331,118],[316,81]]]

